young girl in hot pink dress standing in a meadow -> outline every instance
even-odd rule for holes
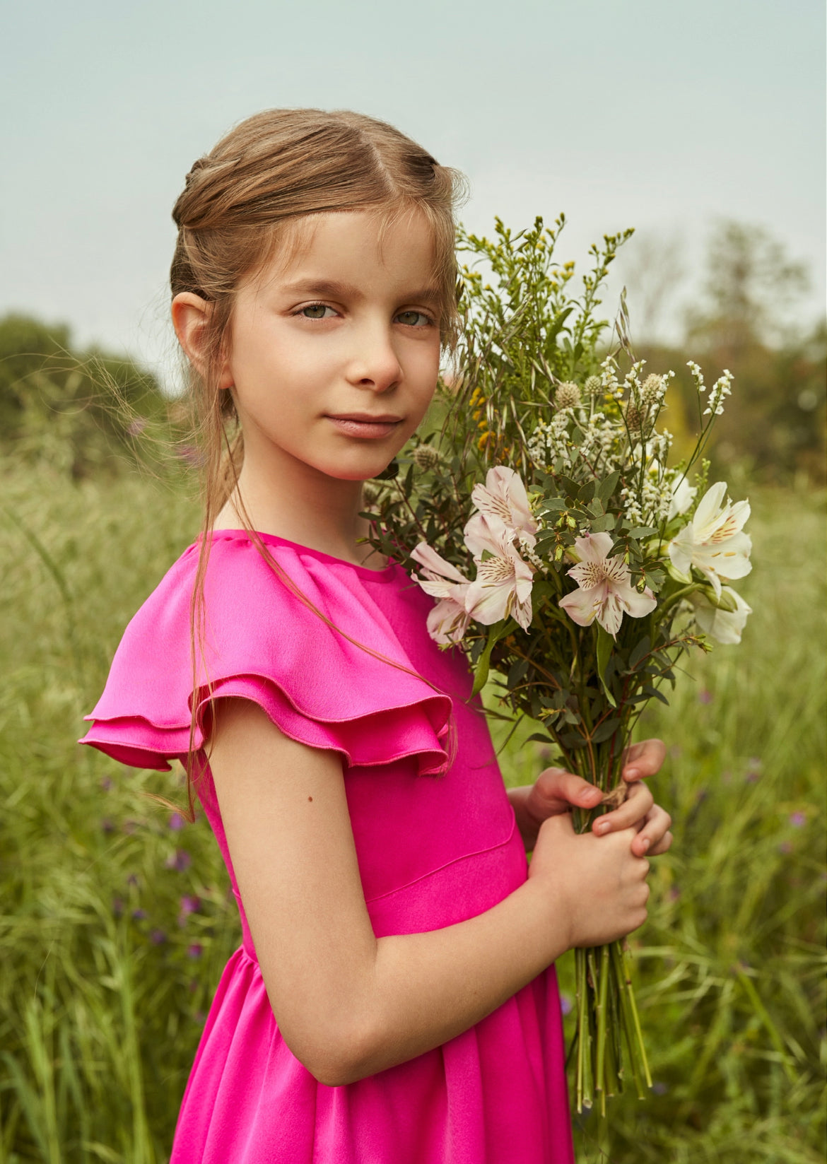
[[[571,1162],[553,963],[643,923],[644,853],[671,843],[639,782],[657,740],[584,836],[578,778],[507,792],[432,599],[365,542],[362,484],[455,347],[460,189],[381,121],[276,109],[175,206],[204,528],[84,738],[182,760],[241,913],[172,1164]]]

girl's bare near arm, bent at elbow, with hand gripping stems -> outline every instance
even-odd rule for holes
[[[630,853],[631,830],[575,838],[568,818],[557,817],[542,826],[538,875],[500,904],[443,930],[377,941],[339,758],[288,739],[254,703],[218,701],[215,709],[210,764],[264,985],[285,1042],[321,1083],[351,1083],[440,1045],[570,945],[591,944],[595,922],[602,938],[607,925],[620,924],[612,936],[621,936],[645,918],[648,865]],[[579,866],[594,866],[584,842],[625,879],[620,916],[616,875],[606,879],[601,867],[594,880],[610,886],[603,913],[593,900],[589,920],[572,917]],[[572,844],[582,860],[568,860],[566,875]],[[546,860],[551,847],[556,864]]]

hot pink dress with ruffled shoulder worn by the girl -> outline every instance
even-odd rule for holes
[[[377,937],[490,909],[525,880],[525,853],[479,698],[468,702],[467,663],[426,632],[432,599],[398,565],[372,570],[261,538],[337,627],[416,674],[348,643],[290,594],[243,531],[222,530],[206,574],[199,723],[208,679],[212,697],[253,700],[285,734],[340,754]],[[132,619],[86,716],[83,743],[123,764],[165,769],[185,759],[197,559],[190,546]],[[205,1023],[170,1164],[572,1164],[553,966],[444,1045],[358,1083],[320,1084],[273,1016],[208,773],[199,797],[243,943]]]

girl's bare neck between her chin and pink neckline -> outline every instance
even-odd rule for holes
[[[284,453],[278,462],[245,449],[238,490],[215,518],[213,528],[242,528],[246,512],[259,533],[380,568],[381,555],[360,544],[368,533],[368,523],[359,516],[363,509],[362,482],[330,477]]]

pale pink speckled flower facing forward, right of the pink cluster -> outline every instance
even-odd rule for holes
[[[574,539],[580,555],[567,574],[579,589],[560,598],[559,605],[579,626],[591,626],[596,618],[605,631],[615,636],[623,615],[643,618],[657,606],[657,598],[645,588],[643,594],[630,582],[629,567],[617,554],[609,558],[612,538],[608,533],[587,533]]]

